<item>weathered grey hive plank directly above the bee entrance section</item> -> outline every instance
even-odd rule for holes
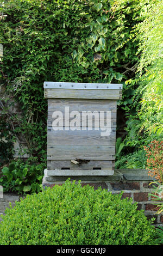
[[[48,160],[115,160],[112,145],[48,145]]]

